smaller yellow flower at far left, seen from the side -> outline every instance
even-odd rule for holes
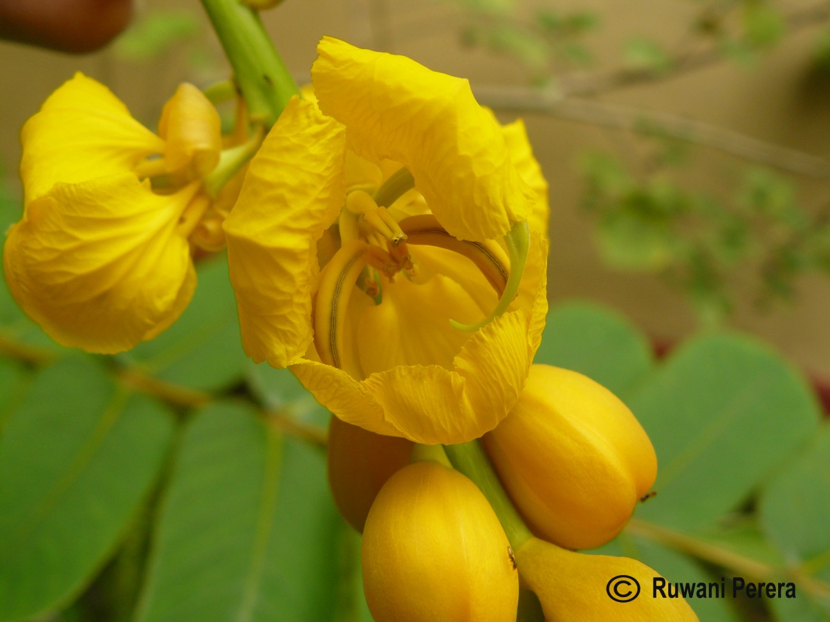
[[[156,135],[79,73],[27,121],[22,145],[25,209],[3,257],[18,304],[90,352],[167,328],[196,284],[187,238],[208,204],[199,179],[219,160],[216,110],[181,85]]]

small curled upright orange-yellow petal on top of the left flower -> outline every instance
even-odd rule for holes
[[[187,167],[203,177],[219,163],[222,122],[213,104],[193,85],[179,85],[164,104],[159,135],[167,143],[164,163],[171,173]]]

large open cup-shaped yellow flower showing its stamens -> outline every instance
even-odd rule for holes
[[[547,185],[524,127],[408,58],[318,52],[317,100],[291,101],[225,221],[243,345],[366,430],[481,436],[546,311]]]

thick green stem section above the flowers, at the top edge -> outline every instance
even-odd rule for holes
[[[238,0],[202,0],[202,5],[233,67],[251,120],[271,127],[300,90],[259,15]]]

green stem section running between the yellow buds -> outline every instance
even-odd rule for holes
[[[501,526],[505,528],[507,539],[516,551],[527,540],[533,537],[530,529],[516,512],[513,503],[501,486],[499,476],[493,470],[490,460],[481,449],[477,440],[461,445],[444,445],[447,456],[458,471],[470,478],[476,486],[484,493],[487,501],[490,502],[496,516],[499,517]]]

